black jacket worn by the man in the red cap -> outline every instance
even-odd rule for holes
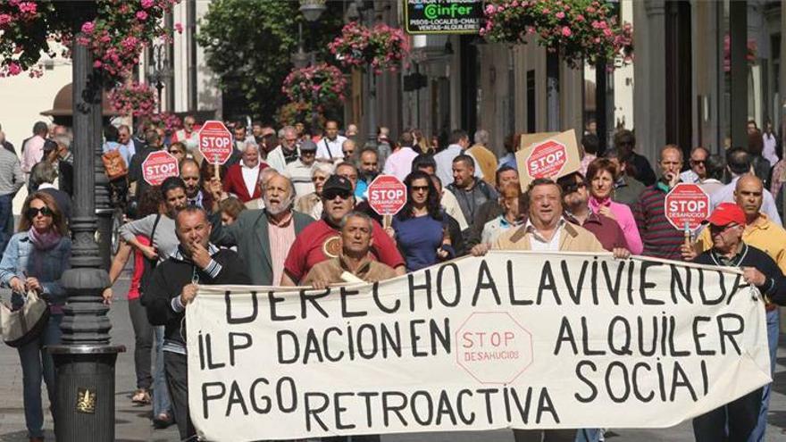
[[[723,266],[723,263],[717,259],[713,249],[699,254],[693,262]],[[735,258],[733,266],[740,268],[755,267],[758,271],[764,273],[766,280],[763,285],[757,286],[758,291],[762,295],[769,297],[774,304],[786,305],[786,277],[783,276],[783,272],[770,255],[765,254],[754,246],[743,244],[742,251]]]

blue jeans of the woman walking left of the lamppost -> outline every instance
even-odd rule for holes
[[[25,423],[28,427],[29,438],[44,437],[44,412],[41,409],[41,379],[46,382],[46,393],[49,396],[50,412],[54,411],[54,362],[52,355],[44,349],[60,343],[62,332],[60,322],[63,314],[53,314],[49,317],[46,329],[38,339],[18,347],[21,361],[22,390],[25,405]],[[54,416],[54,413],[53,413]]]

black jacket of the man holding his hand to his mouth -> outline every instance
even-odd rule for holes
[[[176,312],[172,308],[172,299],[180,296],[180,291],[192,282],[195,275],[198,283],[203,285],[251,283],[246,274],[246,265],[237,253],[213,245],[210,247],[213,261],[219,265],[217,268],[208,266],[207,271],[199,269],[180,253],[180,249],[177,254],[155,266],[144,295],[147,320],[151,325],[164,326],[164,339],[167,341],[181,346],[186,344],[186,312]]]

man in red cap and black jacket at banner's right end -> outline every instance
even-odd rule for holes
[[[737,267],[743,279],[753,284],[776,304],[786,303],[786,279],[778,264],[765,252],[742,241],[746,216],[739,205],[722,203],[704,221],[708,224],[713,246],[699,254],[694,263]],[[690,246],[684,246],[690,248]],[[693,434],[697,442],[717,440],[748,440],[756,428],[761,407],[762,388],[693,420]]]

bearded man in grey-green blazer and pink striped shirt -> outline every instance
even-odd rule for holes
[[[310,216],[292,210],[294,197],[292,181],[273,175],[263,188],[264,209],[241,212],[230,226],[213,226],[213,242],[238,246],[238,254],[255,286],[278,285],[295,238],[314,222]]]

